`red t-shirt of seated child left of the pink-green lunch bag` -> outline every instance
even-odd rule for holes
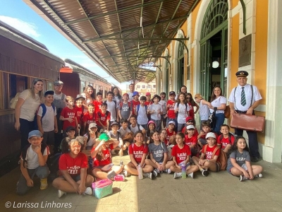
[[[69,153],[64,153],[59,159],[59,170],[67,170],[71,177],[80,175],[80,169],[88,167],[88,160],[85,153],[78,153],[72,158]]]

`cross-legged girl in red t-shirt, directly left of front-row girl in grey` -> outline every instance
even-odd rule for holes
[[[148,154],[148,146],[143,143],[144,135],[142,131],[137,131],[134,134],[135,143],[128,147],[128,153],[130,156],[130,163],[124,167],[124,175],[138,175],[138,165],[142,167],[142,172],[144,177],[152,179],[152,170],[154,167],[152,165],[145,164],[146,156]]]

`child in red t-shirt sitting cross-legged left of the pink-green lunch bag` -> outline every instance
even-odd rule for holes
[[[66,146],[63,148],[68,149],[68,152],[61,155],[59,159],[60,177],[53,181],[53,186],[58,189],[58,197],[61,198],[67,192],[92,195],[91,185],[94,178],[87,175],[87,156],[80,152],[83,141],[72,139],[64,144]]]

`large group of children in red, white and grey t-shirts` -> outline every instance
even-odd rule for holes
[[[39,131],[30,132],[30,145],[22,151],[18,194],[25,194],[33,186],[35,175],[41,179],[40,189],[48,187],[49,169],[46,163],[51,138],[49,130],[56,131],[56,110],[51,106],[51,95],[54,95],[51,91],[45,93],[43,107],[46,108],[41,106],[42,109],[37,113]],[[218,136],[211,131],[209,122],[205,121],[198,133],[194,110],[186,101],[185,93],[179,93],[178,100],[175,100],[176,94],[171,91],[167,102],[164,101],[165,93],[161,97],[154,95],[152,99],[142,96],[140,104],[136,104],[139,101],[138,93],[133,93],[130,102],[125,93],[119,105],[111,107],[109,111],[109,102],[114,102],[112,96],[109,92],[105,102],[99,98],[87,106],[82,95],[75,99],[75,106],[74,99],[66,97],[67,106],[60,117],[66,138],[61,142],[60,175],[53,181],[59,198],[68,192],[92,194],[90,186],[94,177],[106,179],[113,170],[125,177],[142,172],[144,177],[150,179],[161,172],[174,172],[174,178],[183,177],[184,170],[188,177],[193,178],[193,173],[198,170],[207,176],[209,170],[219,172],[225,170],[227,165],[226,170],[240,177],[240,181],[262,177],[262,167],[250,164],[245,139],[242,136],[235,138],[229,132],[228,125],[221,126],[221,135]],[[163,102],[159,104],[160,101]],[[87,112],[83,112],[85,106]],[[113,112],[116,112],[116,119],[111,119]],[[50,122],[54,123],[54,129],[45,128],[48,119],[49,126],[52,125]],[[165,127],[161,126],[164,119]],[[76,136],[79,129],[80,135],[84,136]],[[123,155],[127,149],[130,163],[114,165],[111,155],[116,154],[116,151]],[[82,150],[90,150],[90,156],[87,157]],[[222,160],[226,158],[223,155],[230,155],[225,161],[227,164]],[[89,164],[92,164],[91,172],[87,172]]]

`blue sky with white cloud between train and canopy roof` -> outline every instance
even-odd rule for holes
[[[109,76],[22,0],[0,0],[0,20],[41,42],[49,52],[61,59],[71,59],[90,71],[99,73],[106,81],[125,89],[125,83],[118,83]]]

